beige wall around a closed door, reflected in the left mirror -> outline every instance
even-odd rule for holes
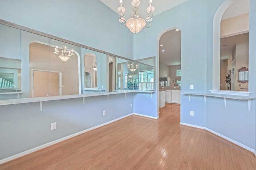
[[[50,55],[49,55],[50,54]],[[30,70],[30,97],[31,70],[50,70],[62,72],[62,95],[79,94],[78,57],[68,61],[62,61],[54,57],[54,47],[40,43],[31,43],[29,46],[29,70]]]

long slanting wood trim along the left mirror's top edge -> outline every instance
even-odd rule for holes
[[[15,23],[11,23],[11,22],[8,22],[8,21],[4,21],[4,20],[1,20],[0,19],[0,24],[3,24],[3,25],[6,25],[6,26],[10,26],[10,27],[14,27],[14,28],[17,28],[17,29],[21,29],[23,31],[28,31],[30,33],[34,33],[34,34],[37,34],[37,35],[41,35],[41,36],[44,36],[44,37],[48,37],[48,38],[51,38],[51,39],[55,39],[55,40],[58,40],[58,41],[62,41],[62,42],[66,42],[66,43],[69,43],[69,44],[72,44],[72,45],[76,45],[76,46],[79,46],[79,47],[83,47],[83,48],[86,48],[86,49],[90,49],[90,50],[93,50],[93,51],[96,51],[96,52],[99,52],[99,53],[104,53],[106,55],[110,55],[110,56],[113,56],[113,57],[118,57],[120,59],[125,59],[125,60],[128,60],[128,61],[132,61],[131,59],[126,59],[125,57],[121,57],[121,56],[118,56],[118,55],[114,55],[112,53],[108,53],[106,51],[102,51],[102,50],[99,50],[99,49],[95,49],[95,48],[92,48],[92,47],[88,47],[86,45],[82,45],[80,43],[76,43],[76,42],[73,42],[73,41],[69,41],[67,39],[63,39],[63,38],[60,38],[60,37],[56,37],[54,35],[50,35],[50,34],[47,34],[47,33],[43,33],[43,32],[40,32],[40,31],[36,31],[34,29],[30,29],[28,27],[23,27],[21,25],[17,25]]]

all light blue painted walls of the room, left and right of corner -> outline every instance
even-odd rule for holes
[[[181,93],[209,93],[212,89],[212,20],[223,2],[189,0],[155,16],[152,27],[135,35],[128,29],[120,29],[116,13],[98,0],[78,0],[70,4],[61,0],[37,3],[1,0],[0,19],[128,59],[156,56],[156,75],[160,33],[170,27],[179,27],[182,33]],[[62,13],[56,7],[72,11]],[[250,0],[250,8],[249,90],[255,96],[255,0]],[[66,27],[62,26],[67,23]],[[120,36],[125,41],[120,42]],[[194,90],[190,90],[190,84],[194,84]],[[126,94],[126,98],[124,94],[111,95],[109,101],[107,96],[90,97],[86,98],[85,105],[82,98],[58,100],[44,102],[42,112],[38,102],[0,106],[0,160],[132,112],[157,117],[157,98],[156,90],[152,97],[142,93]],[[130,107],[131,103],[134,108]],[[249,112],[247,101],[227,99],[224,107],[223,98],[207,97],[205,103],[203,96],[192,96],[188,102],[188,96],[181,95],[181,122],[206,127],[255,149],[255,107],[255,100]],[[106,110],[105,117],[103,110]],[[194,117],[189,115],[190,111],[194,111]],[[51,131],[50,123],[55,121],[58,128]]]

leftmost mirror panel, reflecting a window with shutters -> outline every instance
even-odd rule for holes
[[[20,29],[0,24],[0,30],[0,100],[20,98]]]

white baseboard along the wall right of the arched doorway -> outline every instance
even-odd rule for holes
[[[213,131],[213,130],[211,130],[211,129],[208,129],[208,128],[206,128],[206,127],[197,126],[197,125],[191,125],[191,124],[183,123],[183,122],[180,122],[180,125],[185,125],[185,126],[190,126],[190,127],[196,127],[196,128],[198,128],[198,129],[204,129],[204,130],[209,131],[209,132],[211,132],[211,133],[213,133],[213,134],[215,134],[215,135],[217,135],[217,136],[219,136],[219,137],[222,137],[223,139],[226,139],[226,140],[228,140],[228,141],[230,141],[230,142],[232,142],[232,143],[234,143],[234,144],[236,144],[236,145],[238,145],[238,146],[240,146],[240,147],[242,147],[242,148],[244,148],[244,149],[247,149],[247,150],[253,152],[253,153],[256,155],[256,151],[255,151],[254,149],[252,149],[252,148],[250,148],[250,147],[247,147],[246,145],[244,145],[244,144],[242,144],[242,143],[239,143],[239,142],[237,142],[237,141],[235,141],[235,140],[233,140],[233,139],[230,139],[230,138],[228,138],[228,137],[226,137],[226,136],[224,136],[224,135],[222,135],[222,134],[220,134],[220,133],[218,133],[218,132],[216,132],[216,131]]]

